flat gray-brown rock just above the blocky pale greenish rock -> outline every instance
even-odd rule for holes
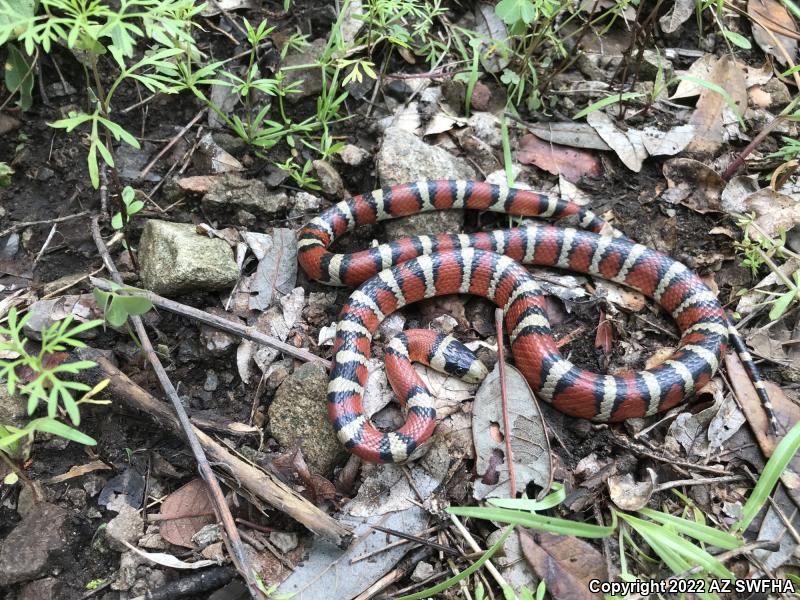
[[[203,210],[212,217],[250,213],[268,219],[289,207],[286,192],[271,191],[258,179],[225,175],[215,181],[202,200]]]

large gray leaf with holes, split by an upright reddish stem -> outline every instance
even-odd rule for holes
[[[522,373],[510,365],[505,371],[516,488],[523,490],[530,481],[546,487],[550,481],[550,454],[538,405]],[[484,479],[475,482],[474,496],[479,500],[507,497],[511,491],[504,437],[508,433],[503,431],[502,410],[500,373],[495,365],[475,394],[472,412],[476,470]]]

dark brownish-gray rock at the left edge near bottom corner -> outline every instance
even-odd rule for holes
[[[0,544],[0,587],[31,581],[45,574],[53,555],[69,552],[69,513],[42,503]]]

